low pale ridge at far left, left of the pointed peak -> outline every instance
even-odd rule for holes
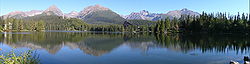
[[[9,14],[3,15],[4,18],[23,18],[23,17],[29,17],[29,16],[35,16],[42,14],[42,10],[31,10],[31,11],[14,11],[10,12]]]

